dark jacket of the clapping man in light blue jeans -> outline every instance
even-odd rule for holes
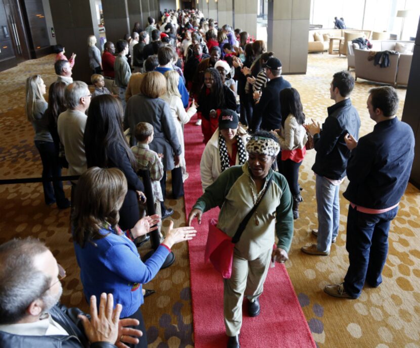
[[[327,111],[321,133],[314,135],[316,157],[312,170],[328,179],[340,180],[346,176],[350,158],[344,136],[349,133],[356,140],[359,138],[360,118],[350,98],[330,106]]]

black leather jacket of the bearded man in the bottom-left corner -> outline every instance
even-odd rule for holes
[[[24,336],[0,331],[2,348],[41,347],[41,348],[115,348],[114,344],[95,342],[90,344],[85,335],[79,314],[85,314],[78,308],[67,308],[58,304],[50,311],[50,315],[69,335]]]

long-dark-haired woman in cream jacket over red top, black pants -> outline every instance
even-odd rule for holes
[[[299,204],[303,201],[299,189],[299,167],[306,154],[308,137],[304,128],[301,96],[295,88],[280,92],[281,129],[278,132],[281,147],[281,172],[289,184],[293,196],[293,219],[299,218]]]

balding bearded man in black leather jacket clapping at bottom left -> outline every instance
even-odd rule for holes
[[[12,239],[0,245],[0,346],[118,348],[138,343],[142,332],[121,319],[121,305],[113,308],[112,294],[103,293],[99,308],[91,298],[91,318],[77,308],[58,303],[64,269],[38,239]]]

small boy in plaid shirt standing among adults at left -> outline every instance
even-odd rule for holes
[[[153,126],[150,123],[139,122],[134,131],[134,136],[136,137],[137,145],[133,146],[131,150],[137,161],[137,170],[149,169],[150,180],[152,181],[155,214],[159,215],[161,218],[160,202],[163,202],[163,195],[160,187],[160,180],[163,177],[163,164],[160,159],[163,155],[157,154],[149,148],[149,144],[153,141]],[[160,239],[163,240],[160,227],[161,222],[159,222],[157,230]]]

